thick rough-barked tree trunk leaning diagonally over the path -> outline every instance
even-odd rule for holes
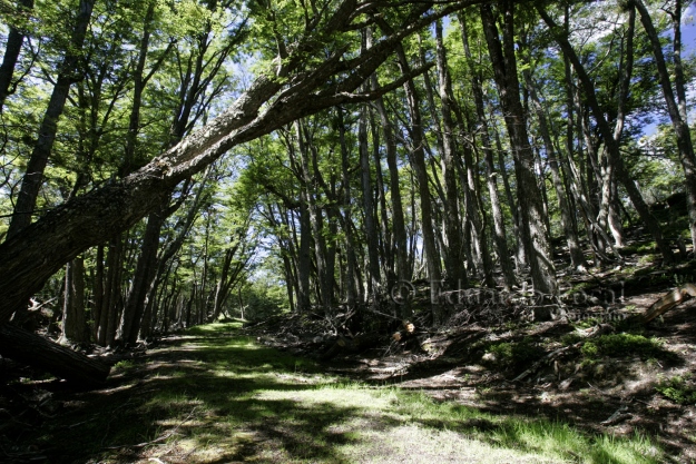
[[[341,49],[307,72],[305,57],[318,52],[324,43],[316,41],[315,34],[352,27],[355,7],[355,0],[344,0],[326,21],[317,20],[307,26],[311,28],[307,34],[280,61],[280,79],[259,76],[226,111],[147,166],[66,201],[27,226],[22,234],[0,244],[0,294],[3,296],[0,324],[9,320],[12,313],[67,261],[133,227],[167,201],[168,194],[178,182],[199,172],[231,148],[326,108],[373,100],[423,72],[428,67],[406,72],[378,91],[355,93],[355,89],[375,72],[404,37],[461,8],[452,4],[428,13],[429,4],[418,6],[404,20],[408,22],[394,24],[396,32],[352,58],[350,69],[342,60],[345,49]],[[302,73],[297,73],[300,71]],[[295,73],[296,78],[285,79]],[[333,76],[337,75],[340,79],[334,79]],[[268,103],[273,97],[277,98]],[[0,336],[2,338],[6,337]],[[11,339],[10,334],[6,339]],[[10,342],[10,345],[17,352],[27,353],[26,359],[40,362],[31,343]],[[45,347],[42,351],[50,349]],[[19,357],[21,353],[14,356]]]

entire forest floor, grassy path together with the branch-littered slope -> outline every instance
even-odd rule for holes
[[[696,298],[647,325],[615,317],[696,282],[648,245],[562,277],[551,320],[460,306],[429,328],[415,302],[412,333],[393,339],[394,322],[354,349],[362,335],[326,318],[220,322],[84,391],[0,359],[0,462],[694,463]]]

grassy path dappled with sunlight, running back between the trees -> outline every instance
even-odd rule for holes
[[[649,441],[493,416],[196,327],[116,366],[107,388],[70,394],[32,437],[50,462],[79,463],[657,463]]]

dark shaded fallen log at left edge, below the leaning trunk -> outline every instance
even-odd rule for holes
[[[0,355],[88,386],[105,382],[111,369],[100,361],[11,324],[0,326]]]

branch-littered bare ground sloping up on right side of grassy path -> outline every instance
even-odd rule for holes
[[[474,298],[473,305],[441,308],[445,322],[438,329],[420,326],[416,309],[412,334],[398,320],[392,325],[399,340],[383,337],[369,349],[350,349],[350,339],[337,347],[329,337],[337,355],[326,369],[498,417],[567,424],[587,436],[647,436],[664,453],[659,462],[696,463],[696,299],[649,324],[630,323],[672,289],[696,283],[696,265],[661,266],[649,240],[634,240],[621,254],[621,265],[561,276],[565,316],[535,322],[512,305],[498,308],[508,317],[496,318],[494,305],[482,310],[486,298]],[[321,326],[316,318],[286,316],[248,333],[268,346],[324,358],[332,348],[316,337]]]

